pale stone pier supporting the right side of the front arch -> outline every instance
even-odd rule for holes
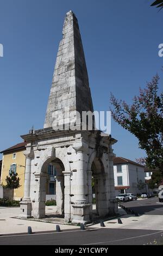
[[[70,222],[72,218],[71,212],[71,172],[62,172],[65,181],[65,198],[64,198],[64,212],[65,222]]]

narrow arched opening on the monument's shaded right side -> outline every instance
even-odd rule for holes
[[[92,172],[92,220],[101,215],[101,201],[103,193],[103,176],[104,176],[104,166],[100,159],[96,158],[92,162],[91,166]]]

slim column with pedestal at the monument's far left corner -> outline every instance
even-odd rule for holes
[[[25,180],[24,180],[24,197],[20,203],[21,208],[21,218],[30,218],[32,212],[32,203],[30,200],[30,177],[31,177],[31,153],[24,154],[26,156],[26,170],[25,170]]]

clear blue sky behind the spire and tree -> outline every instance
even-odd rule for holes
[[[162,89],[163,11],[153,0],[0,0],[0,150],[21,142],[45,119],[62,26],[67,11],[79,22],[94,109],[109,109],[109,95],[131,103],[139,87],[158,72]],[[144,156],[133,135],[112,121],[114,153]],[[2,157],[2,156],[0,156]]]

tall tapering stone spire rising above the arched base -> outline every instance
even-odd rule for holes
[[[44,128],[52,127],[56,111],[91,111],[93,105],[78,20],[66,14],[59,44]]]

